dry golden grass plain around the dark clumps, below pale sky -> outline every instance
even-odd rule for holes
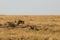
[[[0,27],[0,40],[60,40],[60,16],[0,16],[0,23],[23,20],[39,29]]]

